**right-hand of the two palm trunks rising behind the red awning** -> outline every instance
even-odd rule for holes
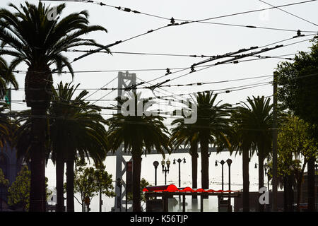
[[[203,134],[200,139],[201,148],[201,186],[208,189],[208,134]]]

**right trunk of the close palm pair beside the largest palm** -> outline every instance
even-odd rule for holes
[[[66,160],[66,212],[74,212],[74,153]]]

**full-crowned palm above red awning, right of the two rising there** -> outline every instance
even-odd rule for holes
[[[201,148],[201,186],[208,189],[208,144],[217,146],[218,151],[231,148],[227,134],[230,133],[228,117],[229,104],[219,105],[213,92],[198,93],[194,104],[197,108],[197,120],[194,128],[198,132]]]

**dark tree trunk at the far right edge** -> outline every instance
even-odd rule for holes
[[[315,212],[316,211],[316,194],[314,192],[314,163],[316,162],[315,157],[310,157],[308,159],[307,165],[307,182],[308,182],[308,211]]]

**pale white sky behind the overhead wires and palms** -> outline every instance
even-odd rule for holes
[[[242,11],[256,10],[259,8],[268,8],[266,4],[261,3],[258,0],[245,0],[245,1],[235,1],[235,0],[225,0],[225,1],[189,1],[189,0],[175,0],[175,1],[147,1],[147,0],[99,0],[105,4],[110,4],[113,6],[128,7],[132,10],[141,11],[143,13],[150,13],[157,16],[163,16],[166,18],[180,18],[186,20],[199,20],[204,18],[212,18],[216,16],[223,16],[231,13],[239,13]],[[299,0],[300,1],[300,0]],[[20,4],[24,1],[0,1],[0,7],[8,8],[8,3]],[[37,0],[30,0],[29,2],[37,4]],[[269,4],[275,6],[290,4],[298,1],[270,1],[267,0]],[[53,1],[46,1],[46,4],[51,4],[55,6],[57,3]],[[306,4],[299,4],[296,6],[284,7],[285,11],[294,13],[297,16],[310,20],[312,23],[318,23],[318,2],[313,1]],[[90,38],[95,39],[100,44],[110,44],[118,40],[125,40],[126,38],[139,35],[148,30],[154,30],[163,25],[169,23],[168,20],[163,20],[160,18],[154,18],[149,16],[144,16],[135,13],[126,13],[124,11],[119,11],[116,8],[110,8],[107,6],[98,6],[96,4],[90,3],[78,3],[78,2],[68,2],[66,3],[66,8],[62,16],[68,13],[78,12],[82,10],[87,10],[90,14],[90,24],[91,25],[102,25],[107,28],[108,33],[104,32],[94,32],[89,35]],[[255,25],[258,27],[269,27],[269,28],[284,28],[290,30],[310,30],[318,31],[316,25],[307,23],[304,20],[295,18],[283,11],[278,9],[271,9],[269,11],[261,11],[255,13],[247,13],[239,16],[230,16],[227,18],[219,18],[215,20],[208,20],[210,22],[216,23],[231,23],[237,25]],[[177,21],[176,21],[177,22]],[[302,34],[308,35],[312,33],[303,32]],[[240,28],[226,25],[212,25],[206,23],[191,23],[187,25],[180,25],[175,27],[164,28],[162,30],[152,32],[148,35],[118,44],[110,48],[113,52],[148,52],[148,53],[162,53],[162,54],[196,54],[196,55],[217,55],[225,54],[228,52],[235,52],[242,48],[249,48],[254,46],[264,46],[272,42],[277,42],[291,38],[296,35],[296,32],[287,32],[279,30],[265,30],[265,29],[251,29],[251,28]],[[310,36],[313,37],[313,36]],[[310,37],[299,37],[294,40],[289,40],[286,42],[281,42],[279,44],[290,44],[292,42],[297,42],[300,40],[306,40]],[[273,47],[271,45],[270,47]],[[271,52],[266,52],[262,55],[264,56],[277,56],[283,54],[295,54],[298,51],[310,51],[308,49],[311,46],[310,42],[301,42],[298,44],[290,45],[288,47],[282,47],[280,49],[273,50]],[[83,47],[81,49],[88,49]],[[72,61],[74,58],[79,57],[83,53],[65,53],[67,57]],[[293,57],[293,56],[288,56]],[[253,59],[253,58],[248,58]],[[8,58],[8,61],[10,59]],[[161,56],[143,56],[134,54],[92,54],[89,57],[83,58],[79,61],[74,62],[74,71],[89,71],[89,70],[129,70],[130,73],[136,73],[137,78],[141,78],[144,81],[151,81],[153,78],[163,76],[165,71],[133,71],[132,69],[166,69],[166,68],[177,68],[177,67],[188,67],[192,64],[201,61],[201,58],[192,57],[161,57]],[[191,73],[187,76],[179,78],[171,83],[167,84],[187,84],[187,83],[198,83],[198,82],[213,82],[213,81],[224,81],[232,80],[237,78],[249,78],[254,76],[266,76],[271,75],[276,69],[278,62],[283,61],[282,59],[262,59],[258,61],[248,61],[242,62],[240,64],[224,64],[219,66],[214,66],[211,69],[206,69],[203,71],[198,71],[196,73]],[[213,61],[216,63],[217,61]],[[26,70],[26,66],[20,64],[18,66],[19,70]],[[52,68],[54,69],[54,67]],[[66,69],[65,69],[66,70]],[[172,70],[173,72],[173,70]],[[186,72],[189,72],[186,71]],[[167,78],[175,78],[182,73],[175,73],[165,78],[161,78],[153,83],[158,83],[165,81]],[[74,78],[74,83],[81,83],[79,88],[101,88],[103,85],[111,81],[117,72],[110,73],[76,73]],[[24,87],[25,74],[19,73],[16,78],[20,88]],[[63,80],[65,82],[71,82],[70,74],[63,74],[62,76],[54,76],[54,83],[57,84],[59,81]],[[173,87],[165,88],[171,93],[192,93],[199,90],[215,90],[220,88],[231,88],[238,85],[247,85],[252,83],[260,83],[264,81],[271,81],[271,78],[264,79],[258,78],[249,81],[237,81],[230,83],[217,83],[213,85],[201,85],[201,86],[185,86],[185,87]],[[137,83],[140,82],[137,80]],[[114,80],[106,88],[116,88],[117,80]],[[149,90],[141,90],[143,96],[152,96]],[[93,90],[90,92],[92,93]],[[100,90],[95,95],[92,95],[88,100],[96,100],[109,93],[109,90]],[[166,95],[171,95],[163,90],[160,92],[166,93]],[[245,101],[248,96],[252,95],[271,95],[272,86],[265,85],[257,88],[251,88],[247,90],[240,90],[233,93],[220,94],[218,100],[222,100],[224,103],[228,102],[230,104],[235,104],[240,101]],[[162,94],[157,94],[162,95]],[[102,99],[114,99],[117,96],[117,90],[112,92],[110,95]],[[24,90],[13,91],[12,100],[22,100],[24,98]],[[104,107],[110,106],[110,102],[98,102],[99,105]],[[23,103],[17,104],[13,103],[13,110],[26,109],[26,105]],[[110,111],[105,111],[104,113],[111,113]],[[169,121],[167,121],[168,123]],[[227,154],[222,154],[222,156]],[[190,161],[189,155],[187,160]],[[227,156],[224,157],[226,160]],[[173,160],[173,156],[170,159]],[[234,158],[234,157],[233,157]],[[240,157],[239,157],[240,158]],[[111,160],[112,157],[109,158]],[[218,157],[211,157],[210,168],[215,170],[214,161]],[[143,159],[145,160],[145,158]],[[161,160],[161,157],[158,159]],[[221,158],[219,159],[221,160]],[[235,160],[236,161],[236,160]],[[256,161],[256,159],[255,159]],[[143,163],[145,163],[143,161]],[[148,165],[151,165],[151,170],[153,168],[152,162],[148,161]],[[237,164],[233,163],[232,168],[237,172],[233,175],[233,179],[237,180],[238,184],[242,184],[242,165],[239,164],[240,160],[237,160]],[[114,159],[110,161],[107,167],[110,167],[110,171],[114,169]],[[145,163],[146,164],[146,163]],[[190,166],[190,165],[189,165]],[[143,165],[145,169],[146,165]],[[220,167],[217,167],[220,170]],[[254,162],[250,165],[251,174],[254,172]],[[190,168],[189,168],[190,169]],[[145,169],[146,170],[146,169]],[[177,170],[177,168],[176,168]],[[200,170],[200,169],[199,169]],[[217,170],[217,169],[216,169]],[[227,170],[227,168],[225,169]],[[257,176],[257,170],[255,169],[254,176]],[[199,172],[199,171],[198,171]],[[54,174],[54,168],[49,169],[49,174]],[[151,181],[153,173],[142,172],[148,180]],[[147,174],[148,173],[148,174]],[[188,172],[187,172],[188,173]],[[190,174],[190,172],[188,173]],[[213,172],[214,174],[214,172]],[[214,176],[217,177],[220,182],[220,172],[215,171]],[[114,175],[114,172],[113,172]],[[158,174],[159,175],[159,174]],[[142,175],[143,177],[143,175]],[[54,177],[52,178],[54,179]],[[188,178],[189,181],[191,177]],[[225,180],[227,181],[227,180]],[[252,183],[253,179],[251,179]],[[255,177],[255,182],[257,181]],[[266,179],[265,179],[266,182]],[[177,172],[175,174],[175,183],[177,183]],[[54,182],[51,181],[52,186]],[[214,189],[214,186],[213,186]],[[98,198],[96,198],[97,200]],[[113,205],[113,203],[112,203]],[[98,210],[96,207],[95,210]],[[107,209],[109,210],[109,209]]]

